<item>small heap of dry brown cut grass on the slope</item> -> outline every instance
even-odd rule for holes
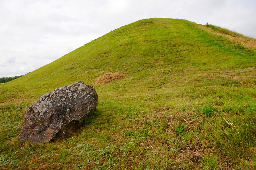
[[[106,84],[114,80],[125,78],[126,76],[119,72],[107,72],[103,76],[99,76],[94,84]]]

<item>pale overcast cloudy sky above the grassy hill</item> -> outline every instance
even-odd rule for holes
[[[144,18],[211,23],[256,38],[255,0],[0,0],[0,77],[24,75]]]

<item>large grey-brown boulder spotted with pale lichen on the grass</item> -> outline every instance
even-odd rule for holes
[[[55,137],[66,138],[81,126],[97,104],[98,95],[92,85],[78,81],[57,88],[28,108],[18,138],[40,143]]]

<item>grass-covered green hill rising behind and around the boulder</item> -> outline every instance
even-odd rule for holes
[[[0,167],[254,169],[255,44],[187,20],[144,19],[0,84]],[[125,77],[95,84],[107,72]],[[67,140],[20,142],[29,105],[78,80],[99,96],[84,126]]]

